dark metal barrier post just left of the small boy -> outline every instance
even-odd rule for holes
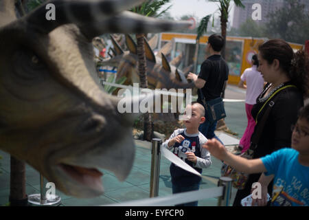
[[[150,197],[157,197],[159,195],[159,174],[160,174],[160,146],[161,139],[152,139],[151,149],[151,174],[150,174]]]

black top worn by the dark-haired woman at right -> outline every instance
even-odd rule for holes
[[[292,85],[290,82],[284,83],[284,86]],[[267,86],[265,87],[267,88]],[[253,118],[258,120],[254,132],[256,132],[259,121],[269,107],[268,103],[274,99],[277,100],[273,105],[271,112],[266,119],[262,134],[258,142],[258,147],[254,151],[253,158],[264,157],[271,154],[280,148],[290,147],[292,131],[290,127],[296,123],[299,109],[304,106],[304,100],[301,92],[296,87],[288,87],[279,91],[269,102],[265,105],[264,109],[258,114],[263,104],[266,102],[260,102],[259,98],[262,98],[266,93],[266,89],[262,91],[262,94],[257,98],[256,104],[251,111]],[[258,115],[258,118],[256,118]]]

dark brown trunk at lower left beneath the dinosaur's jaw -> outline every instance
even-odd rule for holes
[[[25,162],[10,157],[10,206],[27,206],[25,194]]]

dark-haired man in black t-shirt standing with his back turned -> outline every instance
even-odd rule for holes
[[[201,104],[203,104],[203,98],[205,98],[206,102],[213,100],[222,96],[222,93],[225,90],[229,76],[229,67],[220,55],[220,51],[224,45],[225,40],[222,36],[218,34],[212,34],[209,36],[205,52],[210,54],[210,56],[202,63],[201,72],[198,76],[193,73],[190,73],[187,76],[188,80],[192,80],[196,87],[201,89],[202,94],[198,94],[198,102]],[[201,131],[207,139],[214,137],[218,139],[214,133],[216,125],[217,122],[210,123],[206,118],[205,122],[201,124],[198,130]]]

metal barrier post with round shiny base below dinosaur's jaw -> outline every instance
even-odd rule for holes
[[[58,206],[60,205],[61,198],[58,195],[51,195],[52,197],[46,197],[47,181],[40,174],[40,194],[32,194],[28,196],[28,202],[34,206]]]

